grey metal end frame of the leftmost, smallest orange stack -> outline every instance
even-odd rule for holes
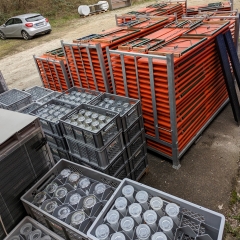
[[[39,76],[40,76],[40,78],[41,78],[41,81],[42,81],[42,83],[43,83],[43,86],[45,86],[46,83],[44,83],[44,81],[43,81],[43,76],[42,76],[40,67],[39,67],[39,65],[38,65],[38,63],[37,63],[37,60],[41,62],[41,67],[42,67],[42,69],[43,69],[43,75],[44,75],[45,78],[47,79],[48,88],[49,88],[49,89],[52,89],[52,88],[50,87],[50,85],[49,85],[49,82],[53,82],[53,85],[54,85],[54,87],[55,87],[55,91],[58,91],[57,88],[56,88],[56,85],[55,85],[55,83],[54,83],[53,72],[52,72],[52,70],[50,69],[49,62],[52,62],[52,63],[53,63],[54,73],[55,73],[56,76],[57,76],[57,80],[58,80],[58,83],[59,83],[59,86],[60,86],[61,91],[63,92],[63,91],[65,91],[65,90],[62,88],[62,84],[61,84],[61,81],[60,81],[60,78],[59,78],[59,74],[58,74],[58,71],[57,71],[56,65],[55,65],[56,62],[57,62],[57,63],[60,65],[60,67],[61,67],[61,71],[62,71],[62,73],[63,73],[63,76],[64,76],[64,79],[65,79],[65,82],[66,82],[66,85],[67,85],[68,89],[71,87],[70,82],[69,82],[69,79],[68,79],[68,74],[67,74],[67,71],[66,71],[66,68],[65,68],[65,65],[64,65],[63,60],[54,60],[54,59],[51,59],[51,58],[41,58],[41,57],[36,57],[35,55],[33,55],[33,59],[34,59],[34,62],[35,62],[35,64],[36,64],[36,66],[37,66],[37,70],[38,70]],[[46,69],[45,69],[44,66],[43,66],[43,62],[46,62],[47,65],[48,65],[48,71],[50,72],[51,78],[52,78],[51,80],[50,80],[50,79],[48,78],[48,76],[47,76]],[[52,89],[52,90],[54,90],[54,89]]]

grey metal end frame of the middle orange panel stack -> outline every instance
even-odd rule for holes
[[[91,54],[90,54],[90,49],[95,49],[95,51],[97,53],[97,56],[98,56],[98,60],[99,60],[99,64],[100,64],[100,68],[101,68],[101,72],[102,72],[102,78],[103,78],[103,82],[104,82],[106,92],[108,92],[108,93],[111,92],[110,86],[109,86],[109,81],[108,81],[108,76],[107,76],[107,70],[106,70],[106,66],[105,66],[105,62],[104,62],[103,52],[102,52],[102,48],[101,48],[100,43],[96,43],[94,45],[93,44],[87,44],[87,43],[64,43],[63,40],[61,40],[61,45],[62,45],[62,48],[63,48],[65,58],[67,60],[67,66],[68,66],[68,70],[70,72],[70,77],[71,77],[71,81],[72,81],[73,86],[74,86],[74,80],[73,80],[72,71],[71,71],[70,64],[69,64],[69,59],[68,59],[67,53],[65,51],[65,46],[71,49],[71,55],[72,55],[72,58],[73,58],[73,61],[74,61],[74,67],[76,69],[76,73],[77,73],[77,76],[78,76],[78,82],[79,82],[79,85],[80,85],[81,88],[83,86],[82,86],[81,77],[80,77],[80,73],[79,73],[79,70],[78,70],[77,62],[76,62],[76,59],[75,59],[75,56],[74,56],[73,47],[78,49],[79,57],[80,57],[81,62],[82,62],[82,68],[84,69],[84,75],[86,77],[86,80],[88,81],[88,76],[87,76],[86,71],[85,71],[84,62],[82,61],[82,54],[81,54],[81,49],[85,48],[85,50],[87,52],[91,72],[92,72],[92,77],[93,77],[93,80],[94,80],[95,90],[98,91],[98,84],[97,84],[97,80],[96,80],[96,76],[95,76],[95,72],[94,72],[94,67],[93,67],[93,62],[92,62],[92,58],[91,58]]]

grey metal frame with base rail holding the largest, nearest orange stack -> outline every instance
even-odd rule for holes
[[[110,68],[111,80],[114,94],[116,94],[112,64],[111,64],[111,54],[117,54],[120,56],[122,70],[123,70],[123,82],[124,82],[124,89],[126,97],[128,95],[128,86],[127,86],[127,77],[125,72],[124,66],[124,57],[131,56],[134,58],[134,67],[136,69],[136,81],[138,86],[138,96],[139,100],[141,100],[140,95],[140,85],[139,85],[139,78],[138,78],[138,67],[137,67],[137,58],[147,58],[148,59],[148,67],[149,67],[149,82],[151,87],[151,98],[152,98],[152,109],[153,109],[153,116],[154,116],[154,128],[155,128],[155,136],[152,137],[146,134],[146,138],[155,142],[158,142],[164,146],[170,147],[172,149],[172,156],[169,156],[163,152],[160,152],[152,147],[148,146],[149,150],[152,150],[161,156],[170,159],[173,162],[173,168],[179,169],[180,159],[184,155],[184,153],[189,149],[189,147],[198,139],[198,137],[202,134],[202,132],[207,128],[207,126],[211,123],[211,121],[217,116],[217,114],[225,107],[228,103],[228,99],[219,107],[218,110],[212,115],[212,117],[205,123],[205,125],[198,131],[198,133],[191,139],[191,141],[184,147],[182,151],[178,151],[178,132],[177,132],[177,117],[176,117],[176,98],[175,98],[175,79],[174,79],[174,57],[173,54],[169,54],[166,56],[159,56],[159,55],[150,55],[150,54],[142,54],[142,53],[134,53],[134,52],[122,52],[118,50],[109,50],[107,48],[107,56],[108,56],[108,63]],[[159,139],[159,126],[158,126],[158,114],[157,114],[157,106],[156,106],[156,97],[155,97],[155,80],[153,74],[153,59],[160,59],[165,60],[167,65],[167,75],[168,75],[168,96],[169,96],[169,108],[170,108],[170,126],[171,126],[171,143],[165,142]]]

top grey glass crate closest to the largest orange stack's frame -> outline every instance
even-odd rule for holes
[[[129,128],[141,116],[140,101],[133,98],[117,96],[110,93],[103,93],[101,96],[93,100],[91,104],[102,108],[107,107],[107,109],[112,109],[112,111],[117,111],[117,107],[115,106],[115,104],[109,104],[108,99],[115,101],[115,103],[122,102],[122,104],[131,104],[131,107],[126,112],[120,112],[123,131],[127,130],[127,128]]]

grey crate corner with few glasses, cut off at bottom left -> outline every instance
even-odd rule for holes
[[[4,240],[22,239],[64,240],[31,217],[25,217],[6,238],[4,238]]]

